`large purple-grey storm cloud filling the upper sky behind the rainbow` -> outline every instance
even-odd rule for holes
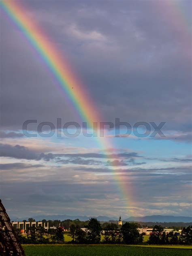
[[[70,56],[66,59],[105,121],[164,121],[164,130],[190,130],[190,37],[154,1],[22,3],[60,54]],[[189,2],[183,6],[188,15]],[[21,128],[31,118],[78,120],[45,65],[4,15],[1,38],[2,125]]]

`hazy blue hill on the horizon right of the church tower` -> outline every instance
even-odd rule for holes
[[[192,217],[185,216],[163,216],[151,215],[144,217],[129,217],[125,221],[139,221],[139,222],[192,222]]]

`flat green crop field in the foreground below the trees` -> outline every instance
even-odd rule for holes
[[[186,247],[185,247],[186,248]],[[23,245],[26,256],[191,256],[190,249],[124,245]]]

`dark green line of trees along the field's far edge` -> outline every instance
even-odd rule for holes
[[[21,243],[64,243],[64,234],[60,227],[49,228],[30,227],[26,230],[26,236],[17,231]],[[107,223],[102,228],[96,218],[91,218],[84,229],[78,224],[70,224],[70,233],[72,241],[68,243],[77,244],[97,244],[97,243],[115,243],[115,244],[142,244],[143,234],[138,231],[138,224],[135,222],[126,222],[121,227],[115,223]],[[102,241],[101,241],[101,236]],[[166,234],[160,225],[154,226],[149,236],[148,244],[192,244],[192,226],[183,228],[181,235],[170,232]]]

